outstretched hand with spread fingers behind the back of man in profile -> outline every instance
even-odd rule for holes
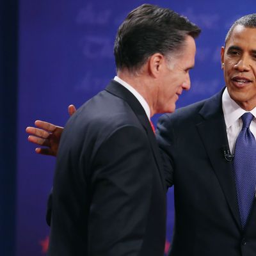
[[[76,107],[74,105],[68,106],[70,116],[75,112]],[[40,120],[35,122],[35,126],[36,127],[27,127],[26,132],[30,134],[28,141],[42,146],[35,149],[36,153],[47,156],[57,156],[63,127]]]

